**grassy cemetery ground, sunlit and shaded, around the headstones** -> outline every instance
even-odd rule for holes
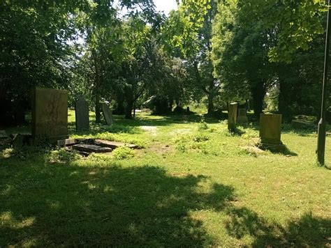
[[[331,247],[331,171],[316,164],[314,130],[284,125],[287,150],[272,153],[252,124],[230,134],[214,119],[138,114],[75,132],[68,118],[70,137],[140,149],[1,148],[0,247]]]

